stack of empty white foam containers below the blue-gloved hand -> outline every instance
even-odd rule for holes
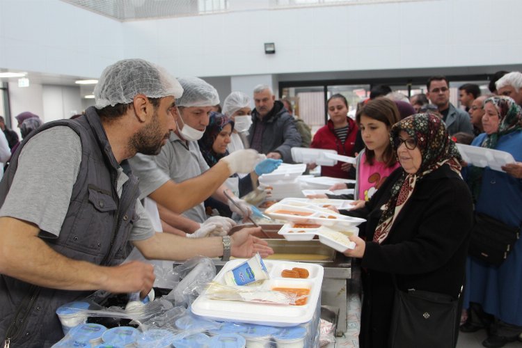
[[[259,177],[260,185],[272,188],[271,199],[279,200],[287,197],[304,197],[301,182],[297,180],[306,171],[306,164],[281,164],[269,174]]]

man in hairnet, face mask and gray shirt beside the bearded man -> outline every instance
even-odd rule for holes
[[[209,170],[197,141],[205,133],[212,106],[219,104],[219,95],[216,88],[197,77],[180,78],[178,81],[184,90],[182,97],[176,101],[180,111],[180,115],[177,117],[178,128],[171,134],[167,145],[161,149],[159,155],[155,157],[155,161],[157,166],[168,173],[172,180],[183,182]],[[221,181],[221,186],[212,192],[212,198],[225,203],[232,212],[241,216],[252,214],[250,205],[244,200],[233,197],[239,208],[228,201],[223,193],[228,190],[223,184],[224,182],[225,180]],[[230,190],[228,190],[228,194],[233,196]],[[203,203],[185,211],[183,216],[175,216],[166,209],[162,209],[161,206],[158,208],[161,219],[180,230],[190,229],[194,223],[204,223],[207,219]]]

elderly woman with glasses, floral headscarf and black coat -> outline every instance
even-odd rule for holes
[[[391,128],[390,139],[400,168],[364,207],[346,213],[367,219],[360,226],[361,237],[350,237],[355,248],[345,251],[361,258],[363,269],[362,348],[391,344],[396,288],[460,299],[473,225],[470,191],[460,175],[461,157],[441,118],[432,113],[404,118]],[[455,315],[452,332],[458,333],[458,324]],[[446,333],[442,325],[440,329],[442,337]],[[456,341],[455,337],[453,345]],[[442,346],[421,338],[409,347]]]

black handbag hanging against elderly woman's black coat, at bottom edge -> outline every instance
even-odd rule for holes
[[[399,290],[393,275],[395,298],[390,326],[391,348],[453,348],[457,345],[461,301],[448,294]],[[461,288],[462,292],[462,288]]]

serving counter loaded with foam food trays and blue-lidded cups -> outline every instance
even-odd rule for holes
[[[277,189],[281,182],[297,184],[300,193],[295,196],[300,197],[272,202],[257,219],[262,228],[258,237],[267,240],[274,255],[228,262],[202,260],[163,298],[165,301],[154,299],[152,292],[152,297],[145,298],[148,303],[132,301],[132,306],[130,302],[123,305],[125,310],[107,304],[110,294],[102,294],[102,301],[68,303],[57,311],[67,335],[62,340],[65,343],[58,342],[56,347],[80,341],[90,342],[86,347],[98,347],[98,343],[106,342],[106,336],[111,344],[123,347],[308,348],[319,345],[323,326],[335,330],[330,334],[332,338],[345,333],[352,269],[351,259],[342,252],[354,247],[347,236],[358,234],[357,226],[364,220],[327,209],[330,205],[347,209],[347,200],[304,198],[303,190],[317,188],[310,185],[310,180],[320,182],[324,188],[335,179],[301,175],[303,166],[296,166],[283,166],[272,174],[276,180],[268,179],[274,184],[270,199],[288,197],[288,192]],[[267,178],[260,178],[260,182],[264,180]],[[267,203],[264,200],[260,209]],[[244,227],[235,226],[230,234]],[[188,280],[194,282],[205,274],[204,261],[209,262],[206,267],[214,273],[205,279],[203,290],[198,290],[185,310],[180,306],[185,290],[193,292],[198,283],[189,285]],[[173,266],[176,269],[184,264],[174,262]],[[109,318],[110,325],[104,326],[106,318],[100,322],[98,317]],[[327,318],[326,325],[319,321],[321,318]],[[125,324],[120,319],[125,319]],[[141,331],[128,327],[133,323]],[[112,326],[116,327],[109,329]],[[329,347],[335,345],[335,339],[329,342]]]

